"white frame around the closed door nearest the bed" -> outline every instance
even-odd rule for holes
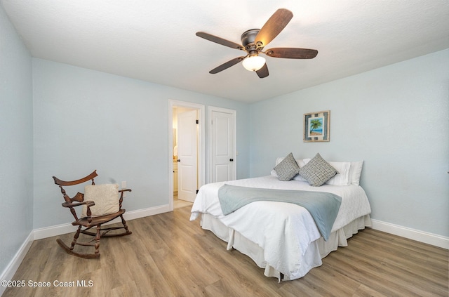
[[[227,114],[232,114],[232,117],[234,119],[234,131],[232,131],[232,133],[234,133],[234,144],[232,147],[232,152],[234,154],[234,161],[232,162],[232,171],[234,174],[234,179],[237,179],[237,161],[239,160],[239,158],[237,158],[237,111],[236,110],[229,110],[227,108],[222,108],[222,107],[215,107],[215,106],[208,106],[208,178],[207,178],[207,183],[211,183],[212,182],[212,140],[213,140],[213,136],[212,136],[212,132],[213,132],[213,128],[212,128],[212,113],[213,112],[224,112]]]

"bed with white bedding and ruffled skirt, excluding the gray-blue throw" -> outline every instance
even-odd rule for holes
[[[332,178],[324,178],[326,182],[320,186],[311,186],[313,183],[307,174],[297,172],[304,173],[302,169],[316,165],[317,156],[319,154],[313,159],[293,159],[297,169],[287,177],[282,177],[283,172],[279,168],[289,162],[293,164],[293,154],[276,159],[276,166],[269,176],[203,185],[192,206],[190,220],[200,218],[203,229],[227,242],[228,250],[236,249],[253,259],[264,269],[265,276],[276,277],[279,281],[303,277],[312,268],[320,266],[321,259],[337,250],[338,246],[347,246],[347,239],[358,230],[371,225],[368,197],[358,185],[363,161],[327,162],[319,156],[320,162],[332,166],[335,173]],[[313,170],[321,173],[323,167],[315,166]],[[224,185],[326,192],[341,197],[341,204],[325,240],[311,213],[297,204],[255,201],[224,215],[218,197]]]

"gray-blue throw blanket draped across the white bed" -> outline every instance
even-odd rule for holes
[[[307,209],[314,218],[324,240],[328,240],[335,218],[337,218],[342,197],[328,192],[301,190],[261,189],[223,185],[218,189],[218,199],[226,216],[242,206],[256,201],[288,202]]]

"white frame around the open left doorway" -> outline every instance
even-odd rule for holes
[[[202,104],[186,101],[168,100],[168,211],[173,211],[173,107],[187,107],[198,110],[198,182],[199,187],[204,185],[206,178],[206,144],[204,135],[206,131],[206,107]]]

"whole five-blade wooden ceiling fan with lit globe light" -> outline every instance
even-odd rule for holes
[[[246,51],[245,56],[237,57],[229,60],[222,65],[210,70],[209,73],[215,74],[226,70],[227,68],[236,65],[239,62],[243,63],[246,70],[255,71],[257,76],[263,79],[268,77],[268,67],[265,63],[265,58],[259,54],[272,58],[290,58],[290,59],[312,59],[318,54],[318,51],[309,48],[269,48],[262,51],[264,46],[267,46],[274,37],[278,36],[284,27],[293,18],[293,13],[287,9],[280,8],[267,20],[262,29],[249,29],[241,34],[241,44],[236,44],[232,41],[216,37],[206,32],[196,32],[196,36],[209,41],[213,41],[223,46],[236,48],[241,51]]]

